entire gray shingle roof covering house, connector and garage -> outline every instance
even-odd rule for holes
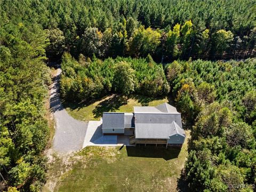
[[[174,134],[185,137],[185,131],[182,129],[181,115],[175,107],[168,103],[163,103],[157,107],[134,107],[134,114],[103,113],[103,129],[134,126],[135,138],[169,139]]]

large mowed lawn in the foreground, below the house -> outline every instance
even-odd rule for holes
[[[177,191],[187,157],[183,147],[96,147],[83,149],[54,191]],[[78,160],[77,160],[78,159]]]

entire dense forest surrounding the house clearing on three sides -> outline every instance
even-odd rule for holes
[[[254,57],[255,46],[256,1],[0,1],[0,190],[44,185],[45,62],[61,58],[67,102],[174,99],[191,130],[189,188],[255,184],[256,60],[204,61]]]

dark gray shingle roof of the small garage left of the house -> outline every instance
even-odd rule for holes
[[[103,113],[102,129],[104,128],[124,128],[124,113]]]

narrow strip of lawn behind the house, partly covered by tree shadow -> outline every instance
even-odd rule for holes
[[[133,106],[157,106],[168,102],[167,98],[152,99],[141,95],[130,98],[120,95],[109,95],[92,103],[64,103],[68,114],[81,121],[99,120],[103,112],[133,112]]]

